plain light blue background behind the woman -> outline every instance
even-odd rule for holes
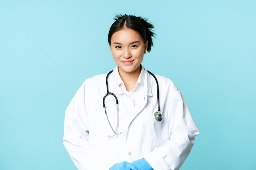
[[[76,170],[65,108],[115,67],[115,13],[155,24],[143,65],[173,80],[200,129],[180,169],[255,170],[255,0],[0,0],[0,170]]]

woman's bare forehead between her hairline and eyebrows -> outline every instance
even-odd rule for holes
[[[111,37],[112,42],[133,42],[133,41],[143,41],[139,33],[133,29],[120,29],[119,31],[113,33]]]

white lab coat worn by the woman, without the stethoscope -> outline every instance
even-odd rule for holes
[[[115,68],[114,71],[117,71]],[[79,170],[109,170],[115,163],[145,158],[154,170],[177,170],[189,155],[194,137],[199,134],[189,108],[173,82],[155,75],[159,83],[162,121],[155,119],[157,86],[146,72],[143,96],[135,107],[112,74],[109,91],[119,102],[120,135],[113,135],[103,109],[106,74],[86,79],[65,113],[63,144]],[[117,124],[115,99],[105,104],[112,126]]]

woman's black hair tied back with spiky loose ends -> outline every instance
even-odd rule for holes
[[[111,44],[111,37],[113,33],[124,29],[133,29],[139,33],[141,38],[144,40],[144,43],[148,41],[148,49],[150,52],[151,46],[153,46],[152,37],[155,37],[155,33],[153,33],[153,24],[148,22],[146,18],[136,17],[134,15],[116,15],[114,20],[116,20],[110,27],[108,32],[108,44]]]

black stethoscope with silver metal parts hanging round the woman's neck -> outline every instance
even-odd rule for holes
[[[112,131],[115,133],[114,135],[110,136],[108,135],[108,137],[113,137],[115,135],[120,135],[122,132],[120,133],[117,133],[117,128],[118,128],[118,120],[119,120],[119,117],[118,117],[118,100],[117,100],[117,96],[114,94],[114,93],[111,93],[108,91],[108,76],[112,73],[112,71],[110,71],[108,74],[107,74],[107,77],[106,77],[106,85],[107,85],[107,94],[103,97],[103,108],[105,110],[105,113],[106,113],[106,116],[107,116],[107,119],[108,119],[108,113],[107,113],[107,110],[106,110],[106,106],[105,106],[105,98],[108,96],[108,95],[112,95],[115,97],[116,99],[116,103],[117,103],[117,126],[116,128],[114,129],[108,119],[108,124],[110,125],[110,128],[112,129]],[[150,71],[148,71],[148,73],[150,75],[152,75],[154,78],[155,78],[155,82],[157,83],[157,108],[158,108],[158,111],[154,113],[154,116],[155,116],[155,119],[157,121],[161,121],[163,119],[163,116],[162,114],[160,113],[160,106],[159,106],[159,86],[158,86],[158,81],[157,81],[157,78],[155,77],[155,75],[153,73],[151,73]]]

